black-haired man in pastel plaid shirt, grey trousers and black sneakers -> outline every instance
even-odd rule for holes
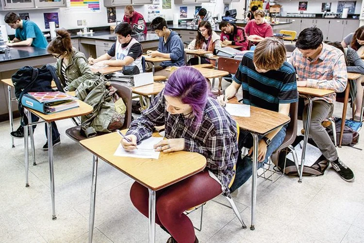
[[[298,74],[298,87],[313,87],[343,92],[347,86],[347,68],[343,52],[323,41],[320,29],[306,28],[298,35],[296,50],[290,62]],[[321,122],[331,117],[335,93],[313,98],[310,137],[331,163],[333,169],[346,181],[353,181],[353,172],[339,159],[336,148]],[[307,105],[303,111],[303,125],[307,121]]]

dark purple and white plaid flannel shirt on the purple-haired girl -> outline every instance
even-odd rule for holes
[[[233,167],[238,157],[236,122],[215,99],[208,98],[202,121],[196,124],[196,117],[185,119],[182,114],[167,112],[163,94],[164,90],[138,119],[132,121],[127,135],[135,135],[139,143],[152,135],[154,126],[165,125],[165,138],[183,138],[185,151],[205,156],[207,168],[221,182],[223,193],[229,194],[229,184],[235,174]]]

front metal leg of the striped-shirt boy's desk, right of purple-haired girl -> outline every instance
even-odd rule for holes
[[[258,170],[258,135],[253,136],[253,175],[251,180],[251,225],[250,229],[255,229],[255,205],[257,202],[257,170]]]

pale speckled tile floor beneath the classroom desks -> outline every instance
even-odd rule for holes
[[[224,84],[226,86],[226,84]],[[341,116],[336,104],[335,116]],[[349,117],[351,114],[348,112]],[[16,120],[16,124],[18,124]],[[301,122],[300,126],[301,126]],[[11,148],[9,123],[0,123],[0,242],[86,243],[92,156],[65,130],[71,121],[57,122],[62,143],[54,148],[57,220],[51,219],[48,153],[43,126],[36,129],[37,166],[30,165],[30,187],[25,188],[23,140]],[[300,130],[300,128],[299,128]],[[361,136],[363,135],[360,132]],[[338,152],[354,171],[355,182],[342,180],[331,168],[319,177],[282,176],[276,183],[258,179],[256,229],[241,229],[230,208],[213,201],[204,207],[202,243],[247,242],[364,242],[364,138],[356,148]],[[132,180],[100,161],[97,185],[95,243],[148,242],[148,221],[131,204]],[[250,225],[250,180],[233,193],[245,223]],[[223,202],[222,197],[217,200]],[[227,203],[227,202],[226,202]],[[190,214],[199,223],[199,211]],[[168,235],[157,227],[158,243]]]

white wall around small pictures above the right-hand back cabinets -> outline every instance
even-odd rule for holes
[[[286,13],[299,13],[300,11],[298,11],[298,2],[299,2],[298,0],[277,1],[278,4],[281,4],[283,6],[283,11]],[[323,2],[331,2],[331,12],[336,13],[338,1],[332,1],[332,0],[309,0],[307,3],[307,11],[303,11],[303,13],[321,14],[321,4]],[[360,14],[361,6],[362,6],[362,1],[356,1],[355,14]]]

